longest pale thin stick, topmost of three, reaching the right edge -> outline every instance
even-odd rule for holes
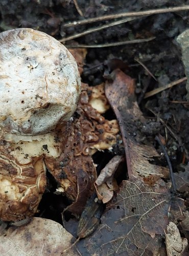
[[[78,20],[77,22],[67,23],[64,25],[64,27],[66,28],[66,27],[89,24],[89,23],[93,23],[93,22],[101,22],[102,20],[114,19],[114,18],[146,16],[146,15],[152,15],[152,14],[159,14],[159,13],[166,13],[166,12],[179,12],[179,11],[186,11],[186,10],[189,10],[189,5],[169,7],[169,8],[160,8],[160,9],[155,9],[155,10],[139,11],[139,12],[123,12],[123,13],[105,15],[105,16],[96,17],[96,18]]]

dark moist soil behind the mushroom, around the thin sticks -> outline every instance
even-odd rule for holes
[[[188,0],[78,0],[77,2],[85,18],[189,4]],[[112,22],[112,20],[107,20],[100,23],[64,28],[64,24],[68,22],[83,19],[72,0],[1,0],[0,15],[0,32],[12,28],[28,27],[48,33],[57,39]],[[138,129],[144,137],[147,137],[156,145],[159,152],[160,148],[155,141],[155,135],[160,133],[167,139],[166,148],[174,172],[180,170],[181,166],[187,164],[188,161],[188,104],[178,103],[179,101],[186,101],[185,83],[183,82],[147,99],[144,99],[144,94],[146,91],[151,91],[158,88],[158,86],[166,85],[185,76],[176,37],[188,25],[188,11],[156,14],[93,32],[78,37],[74,41],[66,41],[65,44],[90,46],[155,36],[155,39],[151,41],[138,44],[89,48],[82,81],[90,86],[96,86],[103,82],[105,75],[115,68],[121,68],[128,75],[135,78],[138,103],[141,111],[149,120],[143,129],[141,127],[138,127]],[[157,81],[135,61],[135,58],[139,58],[144,63]],[[172,101],[178,102],[173,103]],[[106,117],[111,119],[112,115],[113,112],[109,111]],[[159,122],[159,118],[169,125],[174,135],[168,131],[165,125]],[[98,157],[98,155],[95,159],[102,161],[102,166],[110,158],[108,154],[103,156],[106,158],[105,160],[102,160],[102,156]],[[164,164],[166,164],[165,160]],[[52,179],[52,177],[49,177],[49,179]],[[54,184],[55,181],[51,181],[51,183]],[[47,193],[51,194],[51,197],[48,200],[44,197],[42,205],[40,205],[42,212],[45,205],[49,204],[42,217],[61,222],[60,215],[59,217],[55,216],[69,202],[65,200],[65,205],[60,206],[57,203],[59,201],[57,196],[52,194],[53,190],[54,185],[49,188],[49,193]]]

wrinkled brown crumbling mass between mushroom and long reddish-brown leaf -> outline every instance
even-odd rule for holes
[[[88,196],[95,190],[93,184],[97,179],[97,171],[92,155],[97,151],[111,151],[112,146],[121,140],[117,121],[105,119],[90,104],[91,87],[82,83],[81,88],[81,98],[73,122],[67,127],[68,136],[64,141],[62,154],[57,159],[45,158],[46,166],[61,186],[58,191],[62,191],[70,200],[78,203],[75,208],[72,207],[72,214],[81,214],[81,207],[78,205],[86,203],[86,191],[80,183],[88,187]],[[98,94],[101,99],[101,93]],[[103,97],[102,102],[105,102],[106,96]],[[82,182],[79,182],[80,176],[83,178]]]

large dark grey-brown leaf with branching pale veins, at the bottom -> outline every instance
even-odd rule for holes
[[[102,224],[85,242],[92,255],[152,255],[168,225],[170,193],[163,181],[153,187],[138,179],[123,181],[107,205]]]

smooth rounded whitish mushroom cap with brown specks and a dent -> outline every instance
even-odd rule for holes
[[[52,132],[77,107],[77,63],[53,37],[23,28],[0,34],[0,126],[35,136]]]

